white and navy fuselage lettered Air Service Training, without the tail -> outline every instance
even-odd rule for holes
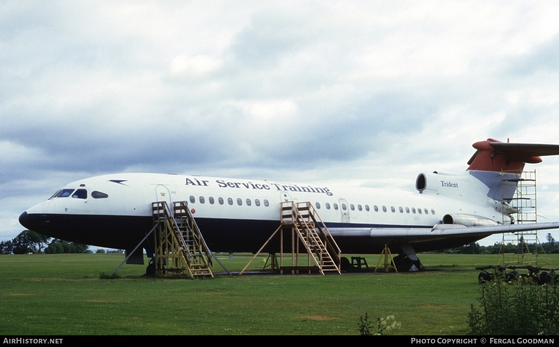
[[[325,225],[335,230],[344,253],[376,253],[382,243],[413,243],[415,230],[425,233],[449,213],[506,220],[484,187],[471,192],[469,177],[465,173],[437,178],[420,193],[195,175],[110,174],[68,184],[63,193],[24,212],[20,221],[47,236],[123,249],[137,245],[151,229],[152,202],[186,201],[212,251],[255,251],[280,225],[280,202],[310,202]],[[408,237],[399,241],[396,232],[391,238],[391,230],[406,230]],[[388,236],[376,240],[375,232]],[[465,240],[470,239],[456,242]],[[453,245],[443,239],[422,242],[421,249]]]

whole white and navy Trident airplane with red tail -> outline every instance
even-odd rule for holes
[[[416,191],[285,183],[200,175],[117,173],[77,180],[23,212],[20,224],[61,240],[154,254],[151,203],[186,201],[213,252],[257,253],[280,224],[280,203],[310,202],[344,254],[399,254],[399,269],[424,269],[416,252],[449,249],[492,234],[559,229],[515,223],[503,193],[525,164],[559,155],[559,145],[475,142],[464,172],[419,173]],[[514,190],[513,190],[514,191]],[[142,241],[145,239],[144,241]],[[277,249],[268,249],[274,253]],[[139,253],[139,252],[136,252]],[[143,264],[141,258],[130,263]]]

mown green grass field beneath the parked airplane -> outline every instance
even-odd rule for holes
[[[218,255],[239,272],[252,255]],[[464,335],[476,267],[496,255],[421,254],[416,273],[257,273],[214,262],[214,278],[145,276],[112,254],[0,255],[0,335],[358,335],[359,317],[394,316],[395,335]],[[557,267],[559,255],[547,256]],[[147,261],[146,261],[147,264]],[[249,272],[250,271],[250,272]]]

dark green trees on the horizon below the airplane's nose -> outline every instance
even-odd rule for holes
[[[31,230],[23,230],[12,240],[0,241],[0,254],[28,253],[92,253],[88,245],[68,242],[41,235]]]

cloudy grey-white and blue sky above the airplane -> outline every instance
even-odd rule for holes
[[[414,190],[421,172],[465,170],[477,141],[559,144],[558,13],[524,0],[0,0],[0,240],[99,174]],[[526,169],[538,221],[559,221],[559,158]]]

